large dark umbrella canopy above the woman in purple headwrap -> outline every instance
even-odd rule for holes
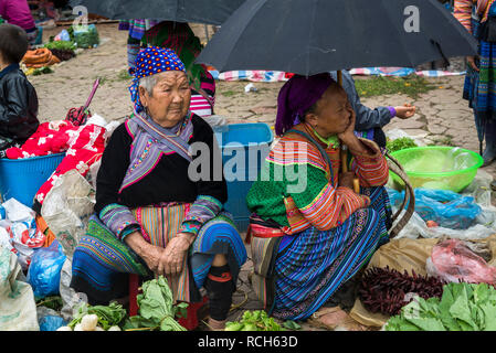
[[[220,72],[313,75],[476,52],[476,40],[437,0],[246,0],[197,62]]]

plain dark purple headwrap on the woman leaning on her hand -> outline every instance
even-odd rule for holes
[[[275,132],[282,136],[299,124],[303,115],[323,96],[335,81],[328,73],[309,77],[294,75],[281,88],[277,97]]]

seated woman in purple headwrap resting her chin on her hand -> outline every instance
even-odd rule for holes
[[[277,104],[282,138],[246,197],[252,282],[272,315],[304,320],[388,242],[388,165],[376,142],[353,132],[355,111],[328,74],[292,77]]]

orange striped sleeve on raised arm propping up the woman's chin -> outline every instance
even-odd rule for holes
[[[355,154],[351,163],[351,170],[358,176],[361,186],[383,186],[388,183],[389,167],[384,156],[376,142],[359,138],[365,143],[371,154]]]

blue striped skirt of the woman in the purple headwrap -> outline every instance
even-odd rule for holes
[[[282,238],[274,264],[272,315],[307,319],[389,240],[391,210],[386,189],[369,188],[361,193],[370,196],[371,205],[342,225],[331,231],[310,227]]]

